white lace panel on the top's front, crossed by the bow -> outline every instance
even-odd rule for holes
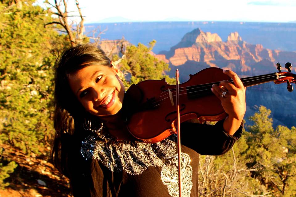
[[[181,153],[181,179],[182,179],[182,196],[189,197],[192,188],[192,167],[190,166],[190,157],[186,153]],[[178,180],[178,155],[172,160],[164,162],[161,170],[162,183],[167,186],[169,194],[173,197],[179,196]]]

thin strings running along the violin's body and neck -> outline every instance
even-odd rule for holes
[[[277,74],[272,74],[272,76],[271,76],[271,75],[262,75],[262,76],[265,76],[265,78],[260,78],[260,79],[268,79],[268,78],[273,78],[273,77],[280,77],[280,78],[284,77],[284,76],[282,76],[282,75],[277,75]],[[266,77],[266,76],[269,76],[269,77]],[[250,78],[248,78],[248,79],[254,79],[254,78],[259,78],[259,77],[253,77],[253,78],[250,77]],[[254,79],[254,80],[243,79],[243,80],[244,80],[245,82],[252,82],[252,81],[256,81],[257,79]],[[233,83],[233,80],[229,80],[229,82],[231,82],[232,84],[234,84],[234,83]],[[219,84],[220,82],[214,82],[214,83]],[[209,84],[209,85],[207,85],[207,84]],[[186,93],[181,93],[181,94],[179,94],[179,95],[183,95],[183,94],[191,94],[191,96],[196,96],[196,95],[198,95],[198,94],[192,94],[192,93],[211,90],[211,88],[212,88],[212,84],[213,84],[213,83],[207,83],[207,84],[201,84],[201,85],[203,85],[203,86],[199,86],[199,87],[197,87],[197,88],[195,87],[195,88],[190,88],[190,89],[180,90],[179,92],[196,89],[196,91],[189,92],[189,93],[187,93],[187,92],[186,92]],[[217,85],[217,84],[216,84],[216,85]],[[193,87],[193,86],[187,86],[187,87]],[[198,90],[199,88],[202,88],[202,87],[206,87],[206,89]],[[208,88],[208,87],[210,87],[210,88]],[[182,87],[182,88],[186,88],[186,87]],[[172,90],[175,90],[175,89],[172,89]],[[172,93],[175,93],[175,91],[174,91],[174,92],[172,91]],[[166,94],[165,94],[165,95],[166,95]],[[164,96],[164,95],[163,95],[163,96]],[[173,96],[175,96],[175,95],[173,95]],[[160,96],[160,97],[161,97],[161,96]],[[160,99],[160,100],[154,102],[153,104],[157,104],[157,105],[155,105],[154,107],[160,105],[161,103],[166,103],[166,102],[162,102],[162,101],[165,100],[165,99],[167,99],[167,98],[170,98],[170,97],[168,96],[168,97],[166,97],[166,98],[162,98],[162,99]]]

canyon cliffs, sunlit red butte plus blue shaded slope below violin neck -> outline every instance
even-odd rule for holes
[[[296,63],[295,52],[270,50],[260,44],[247,43],[238,32],[230,33],[223,42],[217,34],[203,32],[200,29],[185,34],[170,51],[162,51],[158,56],[170,64],[171,77],[175,75],[176,68],[179,69],[180,82],[187,81],[189,74],[195,74],[207,67],[233,70],[240,77],[247,77],[277,72],[277,62],[282,64],[282,71],[286,71],[284,68],[286,62],[291,62],[292,65]],[[292,67],[292,72],[295,70],[295,66]],[[282,102],[284,99],[286,103]],[[296,116],[294,113],[296,107],[288,104],[293,103],[295,99],[295,92],[288,92],[286,84],[276,85],[270,82],[248,87],[245,120],[247,124],[253,124],[247,117],[258,110],[256,106],[264,105],[272,111],[274,127],[279,124],[295,126],[293,120]]]

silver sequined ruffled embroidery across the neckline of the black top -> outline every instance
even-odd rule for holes
[[[87,159],[99,159],[109,170],[125,170],[131,175],[142,174],[149,166],[163,166],[162,159],[176,151],[175,136],[155,144],[114,142],[109,134],[87,136],[82,141],[81,154]]]

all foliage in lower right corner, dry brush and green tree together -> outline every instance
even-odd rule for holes
[[[199,196],[296,196],[296,128],[272,127],[259,107],[231,151],[200,156]]]

